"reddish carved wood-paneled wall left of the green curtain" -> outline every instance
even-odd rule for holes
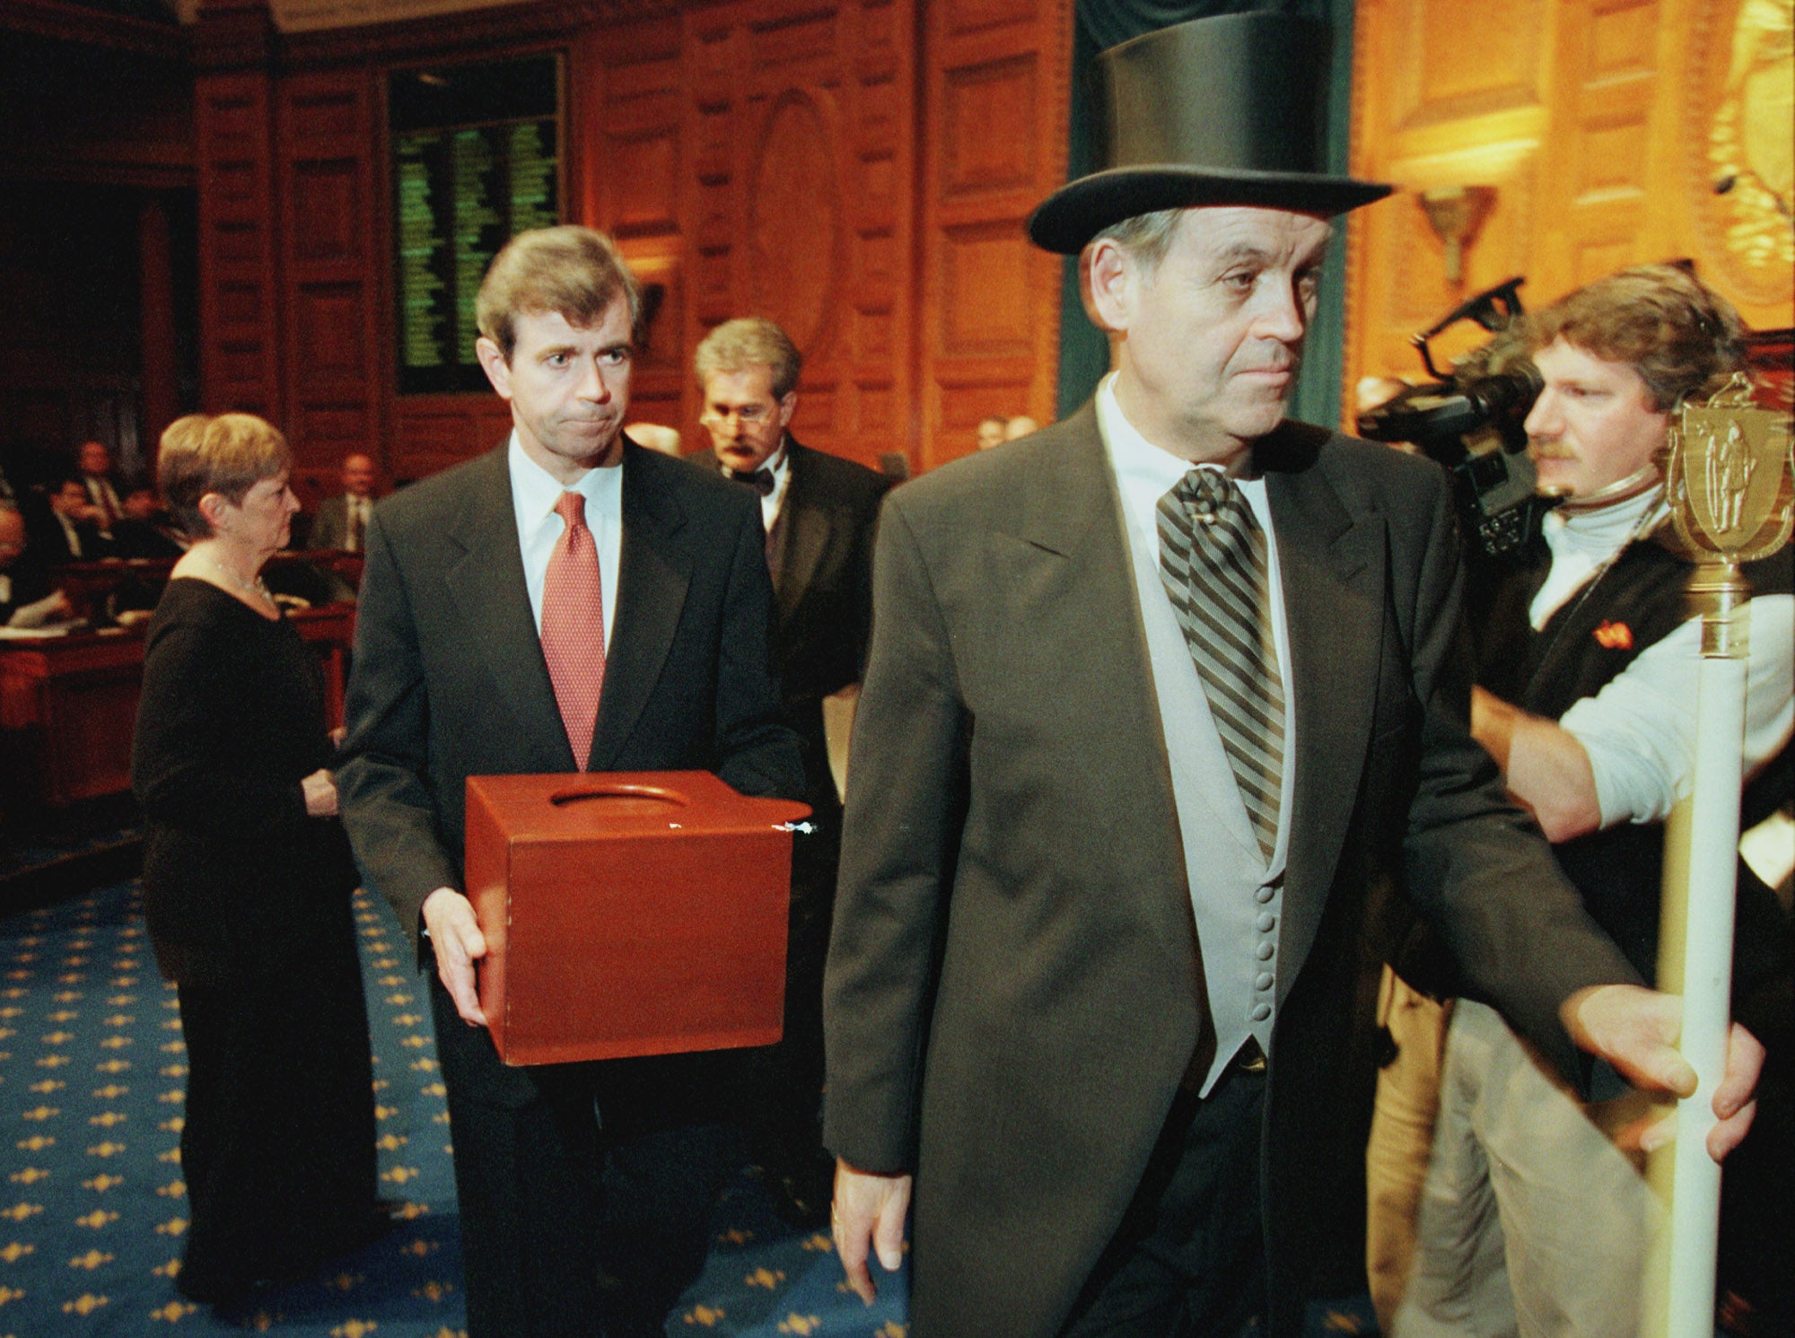
[[[1021,221],[1064,172],[1070,11],[589,0],[280,41],[260,0],[208,0],[205,402],[280,421],[318,493],[352,448],[407,479],[494,443],[495,396],[393,391],[384,77],[562,50],[565,217],[662,292],[634,420],[704,445],[691,350],[763,314],[804,353],[793,427],[827,450],[928,468],[987,413],[1048,421],[1059,269]]]

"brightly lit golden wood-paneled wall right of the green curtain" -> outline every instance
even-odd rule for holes
[[[1346,386],[1423,375],[1407,337],[1513,274],[1537,308],[1623,265],[1689,256],[1754,328],[1795,323],[1786,213],[1745,187],[1714,190],[1743,7],[1362,0],[1353,169],[1402,190],[1353,219]],[[1782,97],[1770,133],[1786,169],[1786,83]],[[1416,197],[1456,185],[1499,192],[1459,285]]]

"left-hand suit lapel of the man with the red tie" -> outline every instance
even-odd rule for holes
[[[479,633],[486,669],[503,685],[504,705],[524,728],[531,750],[542,752],[544,760],[555,757],[549,769],[573,769],[573,750],[524,585],[504,447],[476,466],[474,486],[451,520],[447,538],[461,556],[449,565],[443,581],[465,624]]]

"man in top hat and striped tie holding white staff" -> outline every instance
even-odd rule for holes
[[[1563,1073],[1694,1087],[1470,739],[1445,475],[1283,420],[1328,217],[1388,194],[1318,169],[1325,32],[1106,56],[1115,167],[1029,231],[1115,373],[885,504],[824,1139],[863,1297],[914,1207],[914,1338],[1300,1333],[1398,879]]]

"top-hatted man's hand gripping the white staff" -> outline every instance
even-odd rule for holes
[[[1648,1092],[1691,1096],[1694,1069],[1677,1053],[1682,1030],[1682,999],[1637,985],[1598,985],[1565,999],[1560,1017],[1578,1049],[1598,1055],[1635,1087]],[[1727,1073],[1714,1087],[1714,1117],[1707,1134],[1707,1151],[1716,1162],[1739,1146],[1757,1103],[1757,1073],[1764,1065],[1764,1047],[1738,1022],[1727,1035]],[[1653,1151],[1673,1135],[1669,1119],[1648,1128],[1639,1146]]]

